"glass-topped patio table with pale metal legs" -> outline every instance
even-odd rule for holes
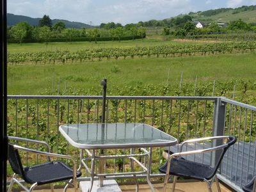
[[[152,147],[170,147],[177,144],[177,139],[147,124],[118,123],[118,124],[67,124],[60,125],[59,130],[65,139],[74,147],[81,149],[81,164],[91,175],[92,190],[93,180],[99,177],[99,186],[103,185],[103,178],[108,175],[133,175],[136,181],[136,191],[138,182],[136,175],[147,173],[147,182],[151,190],[154,188],[150,182],[150,168]],[[106,156],[102,152],[111,148],[131,148],[130,154]],[[140,154],[134,154],[133,148],[141,148]],[[148,149],[146,149],[148,148]],[[83,159],[83,150],[88,154],[88,158]],[[97,154],[100,150],[100,155]],[[145,167],[136,157],[148,157],[148,166]],[[131,160],[131,171],[123,173],[103,173],[104,159],[129,158]],[[92,161],[91,168],[86,164],[86,160]],[[95,173],[95,160],[99,160],[99,173]],[[134,172],[133,162],[141,166],[141,171]],[[81,165],[79,166],[81,169]]]

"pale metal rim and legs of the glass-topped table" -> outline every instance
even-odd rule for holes
[[[88,124],[84,124],[84,125],[88,125]],[[140,125],[146,125],[146,124],[140,124]],[[103,185],[104,177],[118,176],[118,175],[133,175],[134,180],[136,182],[136,191],[138,191],[139,184],[136,179],[136,175],[143,174],[143,173],[147,173],[148,186],[150,186],[151,191],[155,191],[154,187],[152,186],[152,183],[150,182],[150,172],[151,172],[151,164],[152,164],[152,147],[170,147],[172,145],[177,144],[177,139],[170,136],[173,138],[173,140],[170,142],[159,141],[159,143],[129,143],[129,144],[117,143],[117,144],[111,144],[111,145],[104,145],[104,144],[103,145],[101,145],[101,144],[87,145],[87,144],[76,143],[76,141],[72,140],[72,138],[70,138],[70,136],[68,136],[68,134],[65,131],[63,131],[61,126],[63,126],[63,125],[60,125],[59,130],[60,130],[61,134],[63,134],[63,136],[66,138],[66,140],[71,145],[73,145],[74,147],[80,148],[80,150],[81,150],[81,152],[80,152],[81,163],[79,165],[78,170],[81,170],[82,165],[83,165],[84,168],[86,168],[86,170],[88,171],[88,173],[90,173],[91,185],[90,185],[90,188],[88,189],[89,192],[92,191],[93,181],[94,181],[95,177],[99,177],[99,186],[101,187]],[[147,126],[150,126],[150,125],[147,125]],[[150,127],[152,127],[152,126],[150,126]],[[156,129],[156,128],[154,128],[154,129]],[[156,130],[157,130],[157,132],[161,132],[161,134],[166,134],[166,133],[160,131],[159,129],[156,129]],[[168,135],[168,134],[166,134],[166,135]],[[118,148],[131,148],[131,154],[106,156],[106,155],[102,155],[102,152],[100,152],[99,155],[97,155],[97,150],[118,149]],[[134,148],[140,148],[142,153],[134,154],[134,152],[133,152]],[[146,148],[148,148],[148,150]],[[83,158],[83,155],[84,155],[83,151],[86,152],[88,157]],[[138,161],[138,159],[136,159],[136,157],[147,157],[148,158],[148,163],[147,163],[148,166],[146,167],[144,164],[142,164],[140,161]],[[118,159],[118,158],[130,159],[131,172],[103,173],[104,160],[105,159]],[[86,161],[91,161],[90,168],[86,164]],[[99,173],[95,173],[95,161],[99,161]],[[141,171],[134,172],[134,161],[138,164],[138,166],[141,167]]]

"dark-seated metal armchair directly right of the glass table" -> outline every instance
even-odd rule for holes
[[[207,140],[223,140],[223,141],[225,140],[226,142],[223,142],[222,145],[219,145],[216,147],[182,152],[182,147],[186,143],[196,143],[196,142],[207,141]],[[159,171],[161,173],[166,173],[163,190],[166,191],[166,184],[168,183],[170,175],[175,175],[173,180],[172,191],[174,191],[175,189],[177,176],[189,177],[191,179],[197,179],[197,180],[204,180],[205,182],[207,182],[207,187],[210,192],[212,191],[211,184],[215,178],[218,191],[221,191],[220,184],[216,176],[216,172],[218,170],[218,166],[221,163],[221,159],[223,158],[228,147],[230,147],[234,143],[236,143],[236,137],[234,136],[214,136],[214,137],[208,137],[208,138],[187,140],[187,141],[184,141],[183,143],[180,143],[180,151],[170,155],[170,157],[168,158],[168,161],[166,161],[166,163],[164,163],[163,166],[159,168]],[[189,161],[185,158],[182,158],[182,156],[188,156],[191,154],[202,154],[202,153],[214,152],[214,151],[216,152],[220,151],[220,158],[218,159],[217,162],[215,162],[214,166],[210,166],[203,163],[196,163],[194,161]]]

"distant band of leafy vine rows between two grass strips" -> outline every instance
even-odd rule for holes
[[[256,49],[256,42],[223,42],[216,44],[185,44],[162,45],[152,47],[113,47],[99,49],[84,49],[80,51],[45,51],[45,52],[8,52],[8,63],[67,63],[82,62],[112,58],[143,57],[143,56],[191,56],[206,54],[224,54],[246,52]]]

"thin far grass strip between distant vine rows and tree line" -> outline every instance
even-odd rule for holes
[[[38,51],[54,51],[54,50],[68,50],[77,51],[81,49],[93,49],[104,47],[149,47],[157,45],[177,45],[177,44],[191,44],[191,42],[175,42],[172,40],[165,40],[164,36],[151,36],[145,40],[127,40],[115,42],[52,42],[49,44],[8,44],[8,51],[10,52],[38,52]],[[195,44],[195,43],[194,43]]]

